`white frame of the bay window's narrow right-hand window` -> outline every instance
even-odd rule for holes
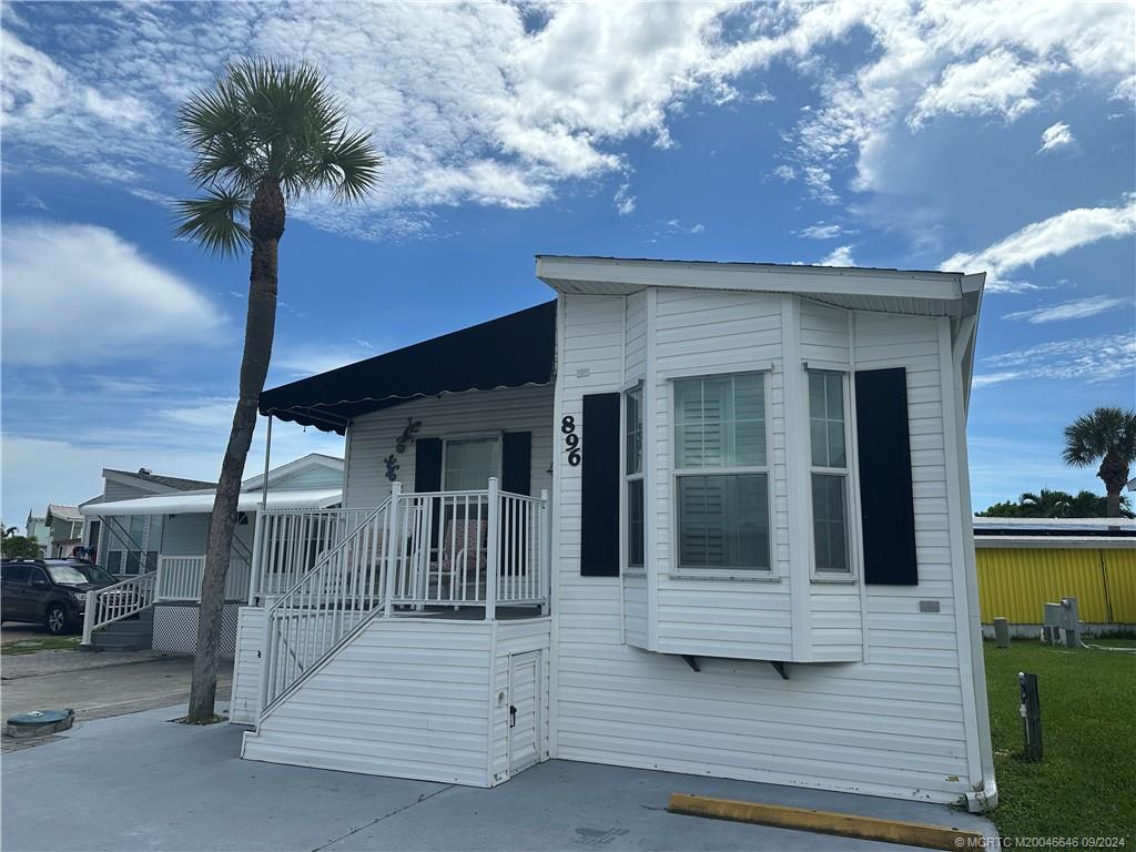
[[[841,391],[844,401],[844,467],[819,467],[812,463],[812,396],[809,389],[809,376],[812,373],[827,373],[841,377]],[[852,376],[846,366],[818,364],[810,361],[804,365],[801,371],[804,383],[804,429],[809,451],[809,578],[813,583],[858,583],[860,579],[860,521],[859,521],[859,493],[860,483],[857,477],[857,457],[853,441],[855,438],[855,408],[852,396]],[[812,475],[826,474],[844,477],[844,550],[847,553],[849,569],[846,571],[821,571],[817,570],[817,532],[816,518],[813,517],[812,502]]]

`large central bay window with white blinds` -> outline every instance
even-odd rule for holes
[[[680,569],[769,570],[765,375],[675,382]]]

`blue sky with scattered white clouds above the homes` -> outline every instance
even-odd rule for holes
[[[292,210],[269,385],[551,298],[535,253],[989,273],[976,507],[1136,402],[1128,3],[5,3],[2,512],[215,478],[245,261],[172,236],[177,105],[318,65],[387,158]],[[260,432],[258,429],[258,432]],[[259,438],[253,466],[260,463]],[[279,461],[342,441],[274,435]]]

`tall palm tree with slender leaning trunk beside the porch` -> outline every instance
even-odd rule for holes
[[[203,192],[177,202],[177,235],[214,254],[251,250],[240,394],[209,523],[187,717],[207,721],[217,693],[225,574],[241,475],[273,349],[277,249],[286,208],[317,192],[358,201],[374,189],[383,160],[369,132],[349,130],[345,111],[307,65],[233,64],[211,89],[190,97],[177,126],[194,156],[190,179]]]

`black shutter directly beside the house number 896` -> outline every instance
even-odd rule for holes
[[[619,394],[584,396],[580,553],[585,577],[619,576]]]

